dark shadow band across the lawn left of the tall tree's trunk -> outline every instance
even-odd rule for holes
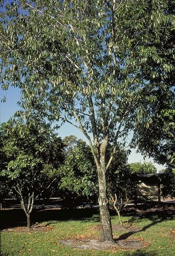
[[[99,222],[99,209],[34,209],[31,212],[31,224],[36,222],[47,222],[64,220],[83,220],[88,222],[89,218],[93,222]],[[0,211],[0,227],[26,226],[26,215],[22,209],[3,209]]]

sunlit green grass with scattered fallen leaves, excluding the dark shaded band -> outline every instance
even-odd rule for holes
[[[3,211],[2,211],[3,212]],[[60,214],[60,212],[58,213]],[[50,215],[51,216],[51,215]],[[61,215],[60,215],[61,216]],[[100,231],[94,229],[99,226],[99,215],[74,216],[74,219],[65,217],[51,218],[43,223],[53,226],[47,232],[1,232],[1,255],[123,255],[123,256],[173,256],[175,255],[175,233],[173,211],[165,213],[149,213],[136,215],[136,213],[122,216],[125,225],[138,227],[141,231],[126,232],[114,231],[115,238],[128,238],[144,241],[146,247],[140,250],[80,250],[60,244],[60,240],[69,238],[100,237]],[[4,216],[2,216],[4,217]],[[112,217],[112,223],[118,224],[117,216]],[[173,236],[174,234],[174,236]]]

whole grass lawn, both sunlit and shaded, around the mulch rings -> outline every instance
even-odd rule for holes
[[[82,250],[60,243],[67,239],[94,239],[100,237],[99,215],[95,210],[43,210],[33,213],[33,221],[40,220],[45,231],[1,231],[1,255],[175,255],[175,208],[127,209],[122,212],[122,221],[128,230],[114,229],[118,241],[142,241],[144,246],[136,250],[111,248],[110,250]],[[18,211],[18,212],[17,212]],[[24,216],[20,210],[1,210],[2,230],[19,226]],[[19,220],[18,220],[19,221]],[[118,226],[117,216],[112,216],[113,226]],[[132,224],[132,225],[131,225]],[[133,230],[131,231],[131,227]],[[19,228],[20,229],[20,228]],[[36,229],[37,230],[37,229]]]

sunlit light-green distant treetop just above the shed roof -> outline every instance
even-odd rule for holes
[[[156,174],[157,169],[152,162],[132,162],[129,164],[132,174]]]

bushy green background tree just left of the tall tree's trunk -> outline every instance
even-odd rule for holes
[[[73,138],[72,136],[69,136]],[[67,140],[65,137],[63,141]],[[59,190],[64,191],[71,203],[72,196],[85,199],[97,198],[97,173],[92,151],[85,141],[74,137],[74,147],[64,164],[58,169]]]

